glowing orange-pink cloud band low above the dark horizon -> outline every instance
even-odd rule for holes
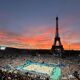
[[[37,31],[36,31],[37,30]],[[42,29],[41,29],[42,30]],[[35,48],[35,49],[50,49],[54,42],[55,29],[46,28],[42,32],[38,32],[38,28],[35,29],[32,36],[22,36],[12,32],[0,31],[0,45],[6,45],[16,48]],[[79,35],[71,32],[69,35],[66,33],[68,29],[60,31],[61,42],[65,49],[80,49]],[[27,34],[27,33],[26,33]],[[63,35],[62,35],[63,34]],[[28,34],[29,35],[29,34]],[[69,44],[69,39],[73,40]],[[78,40],[78,42],[75,42]]]

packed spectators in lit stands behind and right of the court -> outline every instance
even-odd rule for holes
[[[45,63],[55,63],[55,64],[62,64],[61,69],[62,69],[62,77],[66,77],[66,79],[64,80],[68,80],[69,75],[72,75],[75,71],[78,71],[78,74],[80,76],[80,60],[76,60],[76,59],[61,59],[61,58],[56,58],[52,55],[23,55],[23,54],[11,54],[11,55],[2,55],[0,54],[0,66],[6,66],[8,64],[10,64],[13,68],[15,68],[16,66],[22,65],[25,63],[26,60],[32,60],[32,61],[37,61],[37,62],[45,62]],[[5,72],[1,72],[0,74],[4,75],[6,74]],[[11,77],[15,76],[13,74],[8,74]],[[0,76],[1,77],[1,76]],[[5,78],[6,76],[4,76]],[[23,76],[24,79],[21,79],[20,75],[16,75],[15,77],[20,77],[19,79],[17,78],[16,80],[28,80],[25,79],[25,76]],[[3,78],[3,77],[2,77]],[[10,78],[10,77],[8,77]],[[3,79],[5,80],[5,79]],[[6,78],[6,80],[8,80]],[[11,79],[12,80],[12,79]],[[15,80],[15,79],[13,79]],[[29,80],[33,80],[33,79],[29,79]],[[38,79],[39,80],[39,79]],[[73,79],[76,80],[76,79]]]

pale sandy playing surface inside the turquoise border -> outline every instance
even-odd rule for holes
[[[51,73],[53,71],[53,67],[36,65],[36,64],[31,64],[29,66],[24,67],[23,69],[24,70],[29,70],[29,71],[35,71],[35,72],[38,72],[38,73],[48,74],[49,76],[51,75]]]

